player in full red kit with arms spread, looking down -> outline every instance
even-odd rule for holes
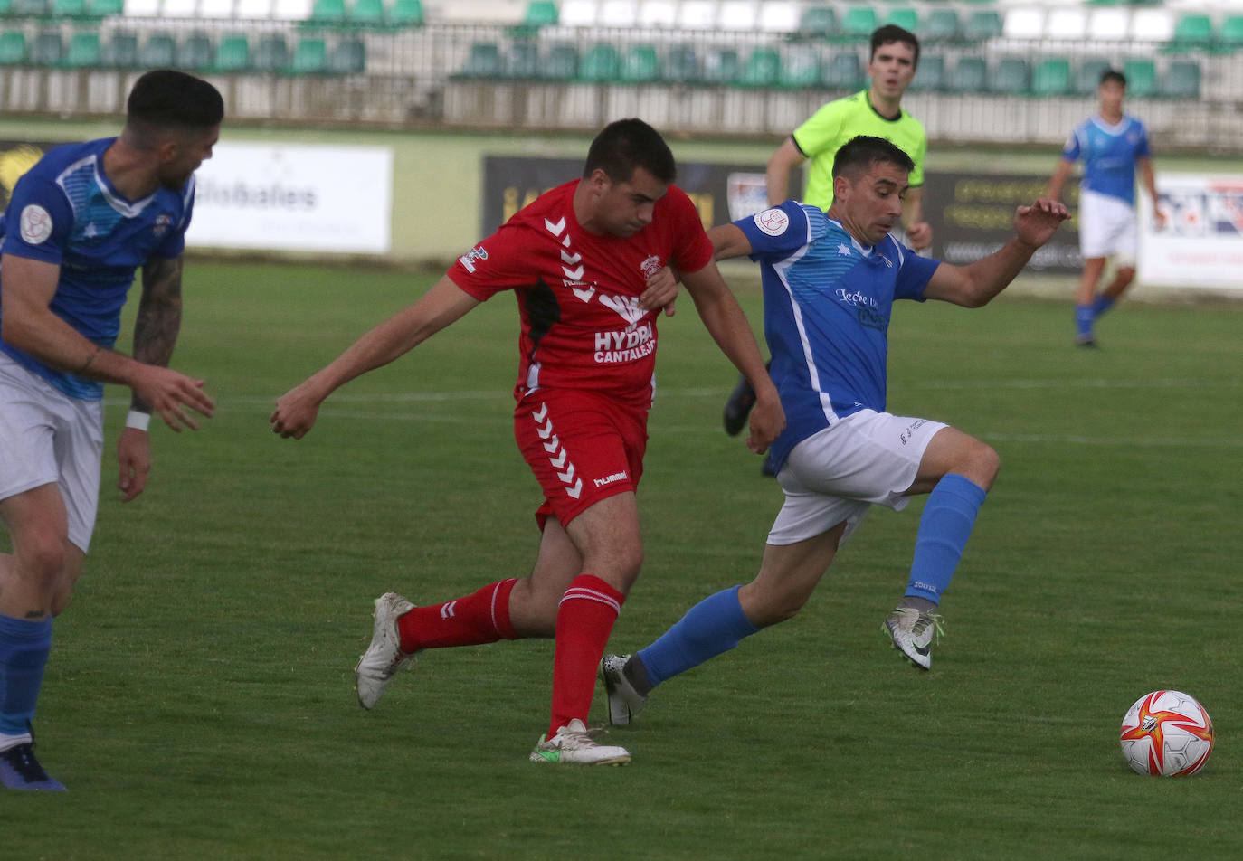
[[[643,562],[635,487],[654,394],[656,318],[676,291],[661,276],[666,265],[680,273],[721,350],[756,386],[748,447],[762,453],[786,422],[699,214],[672,185],[675,170],[650,125],[609,124],[592,142],[580,179],[518,211],[415,304],[277,400],[272,430],[301,439],[344,383],[496,293],[517,296],[513,431],[544,493],[534,568],[435,605],[414,606],[394,593],[377,599],[372,644],[355,670],[364,708],[424,649],[554,637],[552,718],[531,760],[630,760],[624,748],[589,737],[587,716],[597,665]]]

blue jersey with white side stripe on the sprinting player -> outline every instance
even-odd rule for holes
[[[860,245],[838,221],[793,200],[735,224],[762,265],[769,374],[786,410],[786,430],[772,445],[779,470],[808,436],[859,410],[885,410],[894,299],[922,302],[941,262],[891,236]]]

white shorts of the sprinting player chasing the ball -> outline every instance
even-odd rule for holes
[[[777,481],[786,504],[769,544],[794,544],[845,522],[843,540],[873,504],[901,511],[940,421],[860,410],[807,437],[789,452]]]

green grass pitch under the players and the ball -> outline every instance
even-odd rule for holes
[[[534,558],[513,302],[349,384],[301,442],[268,431],[277,395],[434,278],[188,265],[174,365],[219,410],[198,434],[155,430],[148,490],[122,506],[128,393],[109,390],[96,542],[37,716],[70,793],[0,796],[0,856],[1243,856],[1238,303],[1124,303],[1095,352],[1071,347],[1069,301],[901,303],[890,409],[1002,455],[932,672],[879,632],[915,502],[874,512],[797,619],[614,731],[631,765],[576,770],[526,762],[549,641],[425,654],[372,713],[352,690],[375,595],[445,600]],[[758,323],[755,286],[740,298]],[[646,563],[615,651],[747,581],[779,507],[721,431],[735,373],[691,303],[660,329]],[[1119,753],[1126,708],[1161,687],[1214,718],[1195,778],[1141,778]]]

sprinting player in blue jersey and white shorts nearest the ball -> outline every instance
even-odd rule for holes
[[[889,235],[910,169],[894,144],[858,137],[834,159],[828,214],[786,201],[709,231],[717,258],[762,263],[764,335],[787,422],[773,442],[786,502],[755,580],[695,605],[633,657],[604,657],[612,723],[629,723],[655,685],[798,613],[870,506],[902,508],[929,492],[906,596],[885,630],[915,666],[931,665],[935,610],[999,461],[953,427],[884,411],[890,311],[895,299],[987,303],[1068,216],[1037,200],[1017,210],[1014,237],[983,260],[958,267],[920,257]]]

